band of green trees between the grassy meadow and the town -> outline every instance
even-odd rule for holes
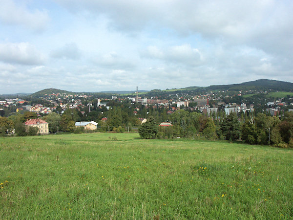
[[[154,132],[149,135],[142,134],[144,138],[174,138],[193,137],[206,139],[220,139],[230,141],[244,141],[250,144],[271,144],[278,147],[293,147],[293,112],[284,112],[280,117],[272,117],[266,113],[240,112],[225,115],[225,112],[213,112],[210,117],[199,111],[176,110],[172,113],[172,105],[131,104],[123,101],[110,101],[104,106],[94,106],[84,114],[77,109],[66,109],[62,115],[52,112],[42,117],[49,123],[49,132],[83,132],[75,128],[76,121],[98,122],[100,132],[125,132],[125,128],[139,127],[142,132],[146,125],[151,124]],[[0,135],[6,135],[15,130],[16,135],[24,135],[23,122],[30,118],[37,118],[35,112],[24,112],[9,117],[0,117]],[[102,118],[107,120],[102,121]],[[139,118],[148,118],[148,122],[141,125]],[[161,122],[171,122],[172,127],[159,128]],[[22,129],[22,130],[21,130]],[[148,129],[148,128],[147,128]],[[27,132],[27,131],[26,131]],[[33,132],[31,132],[33,133]],[[146,132],[147,133],[147,132]],[[149,133],[149,131],[148,131]]]

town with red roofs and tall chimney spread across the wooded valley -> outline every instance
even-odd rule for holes
[[[260,114],[282,120],[287,112],[293,111],[293,93],[280,92],[272,88],[213,91],[196,88],[164,91],[154,89],[141,93],[137,88],[135,92],[129,94],[72,93],[58,89],[44,89],[23,99],[19,97],[2,99],[0,115],[3,117],[2,121],[5,118],[6,123],[2,124],[6,125],[6,130],[1,131],[7,135],[137,132],[147,118],[153,117],[159,127],[172,127],[172,135],[167,135],[166,129],[160,128],[161,132],[158,133],[161,137],[192,137],[206,133],[204,135],[206,138],[245,140],[245,134],[240,128],[238,132],[242,133],[242,136],[235,134],[231,137],[222,133],[221,126],[229,115],[234,115],[239,125],[244,126],[245,122],[257,118]],[[182,113],[178,119],[176,117],[180,112]],[[197,121],[194,122],[194,119],[191,122],[192,117],[197,118]],[[214,124],[214,129],[209,134],[204,132],[208,118]],[[16,126],[19,123],[23,126]],[[29,132],[29,127],[37,127],[38,130]],[[22,132],[17,128],[22,128]],[[261,143],[271,143],[269,137],[271,133],[265,133],[268,137]]]

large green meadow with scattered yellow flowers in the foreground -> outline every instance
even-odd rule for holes
[[[136,133],[0,138],[0,219],[292,219],[293,151]]]

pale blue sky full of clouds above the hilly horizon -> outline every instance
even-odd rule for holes
[[[0,0],[0,93],[293,82],[292,0]]]

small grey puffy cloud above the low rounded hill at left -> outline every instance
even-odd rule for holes
[[[75,43],[65,44],[63,47],[51,51],[52,58],[61,58],[67,60],[78,60],[81,58],[81,50]]]

